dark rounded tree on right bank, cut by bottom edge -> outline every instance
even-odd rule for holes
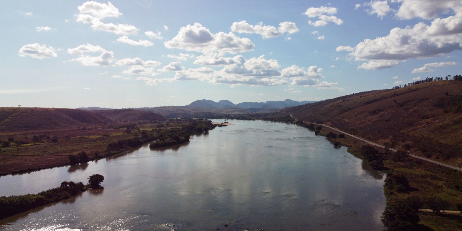
[[[387,206],[381,218],[388,231],[412,231],[420,221],[417,212],[402,201]]]

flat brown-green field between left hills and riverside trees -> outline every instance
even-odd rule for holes
[[[85,151],[90,159],[95,158],[96,153],[99,156],[108,155],[108,153],[114,154],[107,151],[109,143],[131,139],[142,131],[151,132],[159,124],[164,125],[160,129],[168,129],[179,127],[183,125],[183,122],[187,123],[185,121],[168,122],[168,126],[167,122],[136,124],[132,125],[131,133],[127,133],[126,126],[122,126],[122,128],[86,127],[85,130],[81,127],[73,127],[17,132],[4,131],[0,133],[0,140],[2,143],[8,142],[9,146],[1,147],[0,173],[7,174],[66,165],[69,163],[67,158],[69,154],[78,154],[81,151]],[[34,141],[34,139],[38,139],[34,136],[41,139]],[[7,141],[11,138],[13,141]]]

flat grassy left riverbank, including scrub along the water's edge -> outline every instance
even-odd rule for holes
[[[196,131],[189,126],[194,121],[140,123],[122,128],[70,128],[1,133],[1,140],[11,137],[14,141],[10,142],[11,146],[1,148],[0,176],[66,166],[70,164],[69,155],[77,156],[82,151],[87,154],[88,159],[80,163],[107,158],[157,140],[158,134],[174,128],[189,129],[189,133],[194,134]],[[53,139],[57,142],[51,141]],[[21,144],[25,142],[27,144]]]

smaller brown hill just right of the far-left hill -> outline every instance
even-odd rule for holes
[[[134,109],[112,109],[92,111],[98,115],[109,117],[118,121],[164,121],[165,117],[150,111]]]

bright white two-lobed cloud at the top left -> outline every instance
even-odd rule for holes
[[[105,4],[87,1],[78,6],[77,9],[79,10],[79,14],[75,16],[77,22],[91,24],[93,30],[104,30],[117,35],[134,35],[138,33],[139,29],[134,25],[103,23],[101,21],[104,18],[118,18],[122,15],[119,9],[110,2]]]

